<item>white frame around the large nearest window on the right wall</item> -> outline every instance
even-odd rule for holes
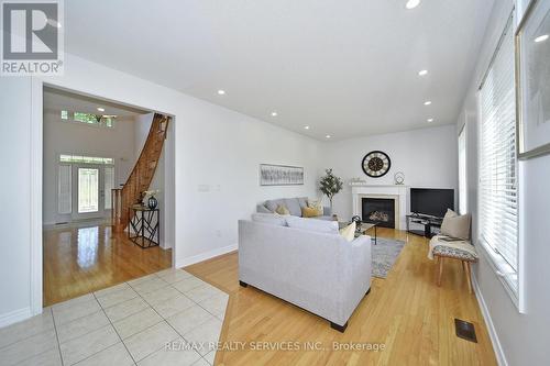
[[[482,219],[481,219],[481,215],[482,215],[482,193],[481,193],[481,174],[482,174],[482,168],[483,168],[483,164],[482,164],[482,153],[481,153],[481,148],[482,148],[482,97],[481,97],[481,91],[482,91],[482,88],[485,84],[485,79],[486,79],[486,76],[490,74],[490,70],[492,69],[493,67],[493,63],[494,60],[496,59],[497,55],[498,55],[498,52],[502,47],[502,44],[505,40],[505,35],[508,35],[508,32],[512,32],[512,36],[514,36],[514,13],[509,16],[508,19],[508,22],[506,23],[503,32],[502,32],[502,35],[501,35],[501,40],[498,42],[498,45],[494,52],[494,55],[493,55],[493,58],[487,67],[487,71],[485,74],[485,77],[483,78],[483,81],[479,88],[479,91],[477,91],[477,111],[479,111],[479,115],[477,115],[477,120],[480,121],[480,123],[477,124],[477,136],[479,136],[479,143],[477,143],[477,146],[479,146],[479,157],[477,157],[477,167],[479,167],[479,179],[480,179],[480,195],[479,195],[479,198],[477,198],[477,212],[480,214],[480,230],[479,230],[479,234],[477,234],[477,243],[480,243],[479,247],[482,248],[482,253],[484,254],[484,256],[487,258],[487,263],[490,264],[490,266],[492,267],[492,269],[495,271],[496,274],[496,277],[499,279],[501,284],[503,285],[504,289],[506,290],[506,292],[508,293],[508,296],[510,297],[513,303],[516,306],[517,310],[520,312],[520,313],[524,313],[525,312],[525,304],[524,304],[524,286],[522,286],[522,276],[521,276],[521,273],[522,273],[522,241],[520,240],[521,237],[521,231],[520,231],[520,223],[521,223],[521,218],[520,218],[520,203],[521,203],[521,199],[520,199],[520,193],[521,193],[521,190],[520,190],[520,177],[521,177],[521,169],[520,169],[520,166],[518,164],[518,159],[517,159],[517,146],[515,146],[516,148],[516,168],[515,168],[515,171],[516,171],[516,200],[517,200],[517,207],[516,207],[516,210],[517,210],[517,222],[516,222],[516,228],[517,228],[517,252],[516,252],[516,268],[513,268],[510,264],[508,264],[508,262],[503,257],[503,255],[501,255],[498,253],[498,251],[496,251],[495,248],[493,248],[490,244],[487,244],[485,242],[485,240],[482,239],[482,233],[483,233],[483,228],[481,228],[482,225]],[[514,47],[515,47],[515,44],[514,44]],[[515,63],[515,59],[514,59],[514,63]],[[516,91],[516,84],[514,82],[514,92]],[[516,113],[514,113],[514,118],[516,117]],[[517,136],[516,136],[517,138]],[[517,144],[516,144],[517,145]]]

